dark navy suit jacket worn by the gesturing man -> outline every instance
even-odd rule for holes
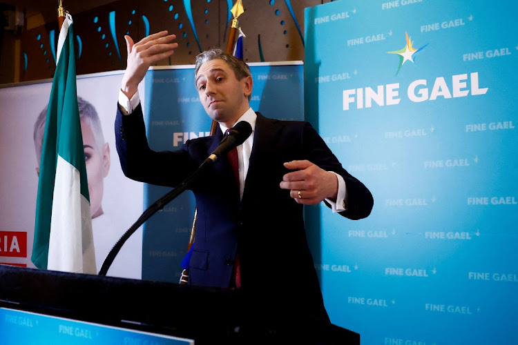
[[[358,179],[342,168],[316,130],[303,121],[279,121],[258,113],[249,170],[242,200],[231,166],[220,159],[191,188],[198,218],[189,283],[229,287],[236,250],[240,255],[242,290],[256,296],[260,308],[276,315],[296,311],[327,319],[314,262],[303,223],[303,206],[279,184],[287,170],[282,164],[308,159],[345,180],[349,219],[367,217],[373,199]],[[177,151],[148,147],[142,108],[124,116],[117,108],[117,152],[127,177],[160,186],[178,186],[211,154],[222,139],[189,140]],[[229,193],[235,190],[235,193]]]

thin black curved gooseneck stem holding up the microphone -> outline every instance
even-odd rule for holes
[[[208,168],[210,168],[214,162],[216,161],[217,157],[215,155],[210,155],[209,158],[205,159],[205,161],[198,167],[198,169],[189,177],[184,179],[178,187],[171,190],[171,192],[167,193],[157,201],[155,201],[151,206],[148,207],[147,210],[142,213],[142,215],[135,221],[135,223],[126,230],[126,233],[120,237],[120,239],[117,241],[117,243],[113,246],[113,248],[110,250],[110,253],[106,255],[106,258],[104,259],[104,262],[102,263],[101,270],[99,270],[99,275],[106,276],[106,273],[108,272],[108,268],[110,268],[111,264],[113,263],[113,260],[119,253],[119,250],[122,248],[124,243],[128,240],[128,238],[137,231],[138,228],[142,224],[144,224],[144,221],[148,220],[152,215],[157,213],[157,211],[162,210],[166,204],[169,204],[169,202],[173,201],[178,195],[182,194],[184,190],[189,188],[193,181],[198,179]]]

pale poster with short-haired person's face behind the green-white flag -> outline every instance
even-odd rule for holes
[[[77,79],[97,270],[142,213],[142,184],[124,176],[115,151],[121,79],[122,72]],[[0,89],[0,263],[34,267],[30,256],[39,159],[51,88],[47,81]],[[124,244],[108,275],[142,277],[142,230]]]

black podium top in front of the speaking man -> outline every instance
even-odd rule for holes
[[[241,289],[62,273],[0,265],[0,307],[146,333],[195,344],[359,344],[332,324],[269,324]],[[287,331],[289,330],[289,331]]]

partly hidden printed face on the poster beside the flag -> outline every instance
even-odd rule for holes
[[[110,148],[108,143],[99,147],[95,141],[92,128],[86,121],[81,120],[83,134],[84,159],[86,175],[88,175],[88,193],[90,194],[90,213],[92,218],[102,215],[102,195],[104,192],[103,179],[110,170]]]

